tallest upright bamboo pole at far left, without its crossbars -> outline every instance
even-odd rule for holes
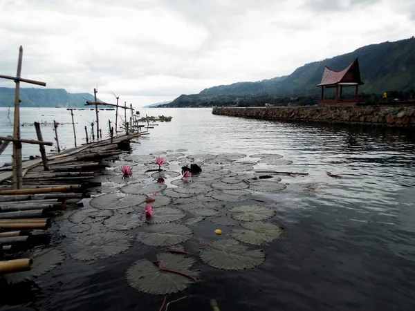
[[[23,47],[19,48],[19,60],[17,62],[17,79],[15,79],[15,121],[13,128],[13,188],[21,189],[23,186],[23,178],[21,178],[21,142],[20,140],[20,75],[21,75],[21,62],[23,59]]]

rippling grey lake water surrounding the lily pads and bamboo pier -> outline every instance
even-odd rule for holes
[[[278,153],[291,165],[279,171],[309,173],[281,176],[283,191],[256,194],[275,207],[273,222],[281,238],[261,246],[266,261],[250,270],[225,271],[203,265],[201,281],[169,295],[168,310],[414,310],[415,308],[415,135],[404,129],[363,126],[293,124],[212,115],[212,109],[140,109],[141,115],[172,115],[150,135],[133,144],[133,154],[169,149],[194,153]],[[74,111],[78,144],[95,111]],[[101,111],[102,136],[115,111]],[[10,112],[12,120],[12,112]],[[47,122],[44,140],[53,141],[50,122],[71,122],[66,109],[21,109],[21,123]],[[12,135],[8,109],[0,109],[0,133]],[[90,127],[89,127],[90,132]],[[71,124],[59,126],[59,142],[73,147]],[[36,139],[33,126],[22,138]],[[53,147],[52,147],[53,148]],[[24,144],[24,156],[38,147]],[[0,162],[10,162],[11,145]],[[252,160],[245,158],[243,160]],[[261,168],[257,164],[255,168]],[[176,168],[176,170],[179,169]],[[341,178],[329,177],[326,172]],[[87,202],[86,202],[87,205]],[[227,238],[232,227],[215,236],[218,225],[201,223],[195,236],[207,241]],[[140,228],[138,228],[140,229]],[[59,226],[50,229],[58,235]],[[60,233],[59,233],[60,232]],[[53,243],[66,249],[69,238]],[[258,247],[254,247],[258,248]],[[19,285],[0,294],[0,310],[159,310],[163,295],[131,288],[125,271],[140,258],[154,258],[160,247],[137,241],[118,256],[75,261],[41,276],[36,285]],[[154,259],[153,259],[154,260]],[[22,304],[24,306],[22,306]]]

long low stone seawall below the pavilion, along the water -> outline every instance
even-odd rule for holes
[[[415,127],[413,106],[214,108],[214,115],[262,120]]]

